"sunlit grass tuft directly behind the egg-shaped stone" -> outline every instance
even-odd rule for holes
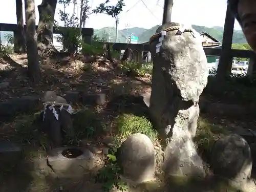
[[[146,117],[123,114],[117,118],[117,131],[121,138],[141,133],[149,137],[153,142],[157,141],[157,132],[153,129],[152,123]]]

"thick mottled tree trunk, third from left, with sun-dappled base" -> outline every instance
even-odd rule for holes
[[[41,53],[56,53],[53,46],[53,22],[57,0],[42,0],[38,5],[39,23],[37,29],[38,49]]]

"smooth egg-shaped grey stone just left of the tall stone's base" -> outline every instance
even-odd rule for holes
[[[128,137],[118,150],[117,160],[123,177],[133,184],[154,179],[156,152],[150,138],[143,134]]]

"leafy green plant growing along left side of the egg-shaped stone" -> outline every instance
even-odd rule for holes
[[[121,142],[118,139],[114,140],[114,144],[109,148],[108,160],[96,177],[97,182],[104,183],[103,192],[109,192],[113,187],[117,187],[121,191],[127,190],[126,183],[120,179],[121,168],[117,164],[117,150],[120,144]]]

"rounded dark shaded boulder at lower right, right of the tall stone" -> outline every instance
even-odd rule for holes
[[[210,167],[214,174],[231,179],[235,184],[246,184],[252,168],[249,144],[237,134],[216,141]]]

